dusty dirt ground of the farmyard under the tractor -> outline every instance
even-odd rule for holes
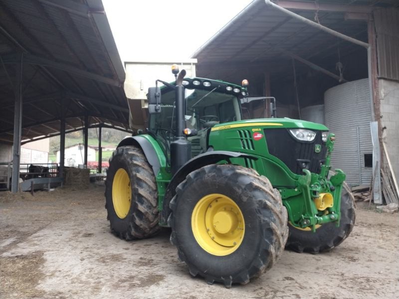
[[[0,193],[0,298],[399,298],[399,216],[357,208],[330,253],[285,251],[268,273],[225,289],[192,278],[168,230],[126,242],[110,233],[104,186]]]

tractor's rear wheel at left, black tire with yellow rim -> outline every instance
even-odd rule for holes
[[[144,239],[160,230],[155,176],[141,149],[127,146],[113,152],[105,183],[105,208],[112,233],[121,239]]]

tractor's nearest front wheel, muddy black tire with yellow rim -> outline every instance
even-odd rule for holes
[[[253,169],[213,164],[195,170],[176,188],[170,208],[179,259],[210,285],[247,284],[273,266],[287,241],[280,193]]]

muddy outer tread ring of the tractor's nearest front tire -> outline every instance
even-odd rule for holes
[[[272,240],[264,237],[266,238],[265,242],[261,243],[262,245],[260,246],[257,258],[251,262],[251,266],[248,267],[248,269],[242,269],[239,273],[236,273],[233,276],[212,277],[209,273],[201,273],[195,265],[193,265],[185,258],[182,248],[178,244],[178,239],[176,238],[175,233],[176,227],[174,213],[176,212],[177,206],[179,205],[179,201],[181,198],[180,195],[184,192],[186,188],[191,185],[191,182],[213,173],[217,173],[218,179],[220,179],[221,181],[228,179],[238,182],[239,178],[246,177],[249,182],[245,185],[243,193],[245,192],[245,194],[250,194],[254,191],[260,191],[267,195],[264,196],[264,198],[262,199],[255,197],[253,197],[252,199],[256,200],[256,205],[259,207],[259,216],[261,217],[261,221],[263,223],[269,223],[269,226],[265,226],[265,229],[272,233]],[[169,217],[168,224],[170,224],[170,226],[172,227],[171,243],[177,246],[179,259],[188,265],[191,275],[202,276],[207,284],[220,282],[226,288],[229,288],[231,287],[231,284],[234,283],[239,283],[242,285],[249,283],[251,278],[259,277],[262,273],[266,272],[274,265],[274,263],[280,258],[281,253],[284,250],[285,243],[287,241],[288,214],[286,208],[282,205],[280,193],[278,192],[278,190],[273,189],[270,181],[266,177],[259,175],[255,170],[250,168],[235,166],[231,164],[213,164],[195,170],[191,172],[186,177],[186,179],[177,186],[176,195],[170,202],[170,208],[172,210],[172,213]],[[266,210],[272,213],[272,217],[267,216],[270,215],[270,213],[262,213],[262,211]],[[263,235],[266,236],[265,233]],[[270,242],[272,242],[273,245],[271,245]],[[263,261],[262,257],[264,256],[268,256],[269,259],[267,261]]]

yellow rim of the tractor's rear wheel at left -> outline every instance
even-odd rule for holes
[[[129,174],[125,169],[119,168],[112,182],[112,203],[116,215],[123,219],[130,210],[130,202],[132,200],[132,189],[130,187]]]

